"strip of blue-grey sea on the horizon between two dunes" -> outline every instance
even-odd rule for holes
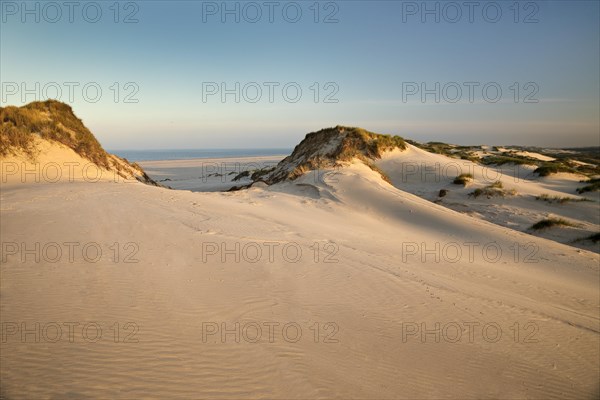
[[[107,150],[130,162],[191,160],[196,158],[242,158],[287,156],[293,149],[175,149],[175,150]]]

